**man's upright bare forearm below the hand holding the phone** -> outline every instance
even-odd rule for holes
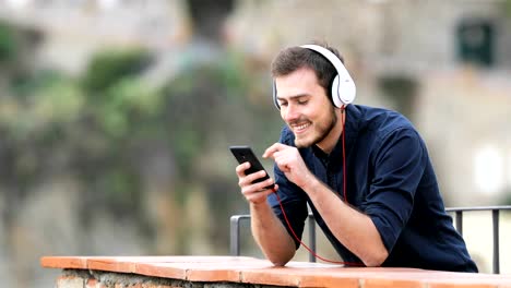
[[[252,235],[264,255],[283,266],[295,255],[295,242],[268,203],[250,204]]]

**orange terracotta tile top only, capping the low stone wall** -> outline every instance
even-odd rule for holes
[[[343,267],[240,256],[44,256],[46,268],[107,271],[189,281],[230,281],[293,287],[498,287],[511,288],[511,275],[450,273],[414,268]]]

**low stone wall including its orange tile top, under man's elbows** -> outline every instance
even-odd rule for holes
[[[270,288],[270,287],[509,287],[511,277],[416,268],[344,267],[289,262],[284,267],[252,257],[43,257],[63,268],[57,288]]]

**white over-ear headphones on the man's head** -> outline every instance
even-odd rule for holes
[[[335,75],[332,82],[331,93],[334,106],[341,108],[353,103],[356,96],[355,83],[353,82],[352,76],[349,76],[349,73],[347,72],[341,59],[338,59],[338,57],[336,57],[329,49],[319,45],[302,45],[300,47],[317,51],[318,53],[324,56],[337,71],[337,75]],[[276,94],[275,81],[273,81],[273,103],[277,109],[281,109]]]

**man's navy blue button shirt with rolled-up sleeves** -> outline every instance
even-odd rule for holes
[[[375,223],[389,251],[382,266],[477,272],[465,242],[445,213],[426,145],[412,123],[394,111],[348,105],[343,133],[346,133],[347,202]],[[284,128],[280,142],[295,146],[293,132]],[[330,155],[317,146],[299,148],[299,152],[316,177],[344,199],[341,139]],[[308,203],[343,260],[361,263],[333,236],[307,193],[290,182],[276,165],[274,176],[295,232],[301,236],[304,231]],[[289,231],[276,196],[271,195],[269,202]],[[296,239],[295,243],[298,249]]]

